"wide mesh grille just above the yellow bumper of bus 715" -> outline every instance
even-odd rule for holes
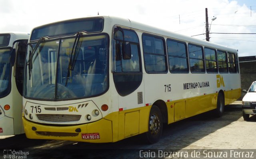
[[[70,114],[36,114],[39,120],[51,122],[79,121],[82,115]]]

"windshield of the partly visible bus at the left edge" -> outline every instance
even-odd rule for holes
[[[0,48],[0,97],[10,91],[10,54],[11,48]]]

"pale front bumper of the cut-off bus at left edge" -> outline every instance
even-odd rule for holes
[[[0,136],[14,135],[13,118],[4,116],[0,118]]]

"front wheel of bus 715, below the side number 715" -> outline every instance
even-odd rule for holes
[[[146,142],[149,144],[157,143],[162,135],[163,119],[160,109],[156,105],[152,105],[148,119],[148,132]]]

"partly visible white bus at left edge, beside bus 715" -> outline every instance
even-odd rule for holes
[[[28,33],[0,33],[0,135],[24,133],[22,88],[28,38]]]

